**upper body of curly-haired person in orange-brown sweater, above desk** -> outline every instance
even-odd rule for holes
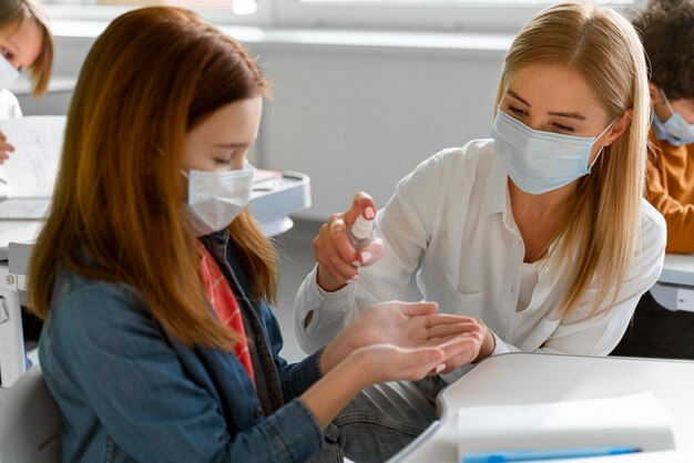
[[[694,253],[694,1],[651,1],[634,25],[651,68],[646,196],[667,223],[667,253]]]

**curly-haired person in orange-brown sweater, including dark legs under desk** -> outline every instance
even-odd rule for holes
[[[669,253],[694,253],[694,1],[651,1],[634,19],[651,69],[646,197],[667,223]],[[613,356],[694,359],[694,313],[645,294]]]

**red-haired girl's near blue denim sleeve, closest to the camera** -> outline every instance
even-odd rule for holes
[[[299,400],[234,431],[225,413],[231,420],[252,413],[247,387],[224,383],[237,390],[223,412],[215,392],[186,374],[170,338],[122,287],[71,292],[53,308],[49,332],[41,362],[58,402],[61,390],[76,388],[79,401],[136,461],[303,462],[320,449],[323,432]],[[298,375],[289,378],[303,385]],[[90,435],[83,439],[89,445]]]

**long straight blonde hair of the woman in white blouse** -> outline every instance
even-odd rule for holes
[[[625,132],[604,147],[591,174],[580,178],[576,206],[555,237],[562,238],[558,251],[570,268],[559,315],[570,313],[599,275],[595,311],[609,296],[614,303],[641,245],[640,203],[650,126],[644,52],[632,25],[614,10],[564,2],[538,13],[513,41],[497,106],[511,75],[534,63],[559,63],[579,72],[603,102],[610,121],[631,110]]]

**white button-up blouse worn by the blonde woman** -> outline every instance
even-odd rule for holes
[[[573,311],[559,318],[554,309],[570,272],[562,270],[559,253],[550,250],[537,264],[530,295],[523,296],[527,307],[519,307],[524,245],[492,140],[472,141],[421,163],[379,210],[375,230],[386,243],[386,255],[363,267],[357,282],[323,291],[315,268],[304,280],[294,317],[305,351],[328,343],[364,307],[400,298],[414,274],[423,298],[438,302],[439,311],[483,320],[497,338],[494,354],[606,356],[626,330],[641,295],[656,281],[666,239],[663,217],[643,199],[641,240],[613,306],[609,296],[591,315],[599,291],[595,277]],[[304,329],[309,311],[313,319]]]

